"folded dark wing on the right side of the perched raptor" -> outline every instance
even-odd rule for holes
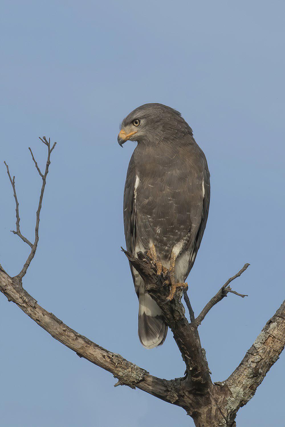
[[[203,152],[202,152],[203,153]],[[209,213],[209,205],[210,205],[210,173],[208,169],[208,164],[206,157],[203,155],[203,162],[204,162],[204,170],[203,170],[203,176],[202,176],[202,191],[203,191],[203,206],[200,211],[200,216],[194,215],[194,218],[196,217],[196,221],[192,220],[192,226],[191,226],[191,234],[194,231],[194,235],[192,235],[192,238],[190,239],[193,242],[193,252],[189,260],[189,266],[187,274],[185,275],[185,279],[188,276],[188,274],[191,271],[191,268],[193,267],[195,258],[197,256],[198,249],[201,244],[201,240],[206,228],[206,222],[208,219],[208,213]],[[197,213],[197,212],[195,212]],[[190,242],[189,242],[190,243]]]

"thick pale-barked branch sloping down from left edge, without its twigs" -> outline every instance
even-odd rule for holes
[[[11,278],[0,266],[0,291],[9,301],[13,301],[27,316],[46,330],[53,338],[66,347],[75,351],[79,357],[84,357],[100,368],[111,372],[118,378],[119,384],[133,389],[138,387],[166,402],[185,407],[184,398],[179,398],[175,388],[179,387],[180,379],[162,380],[150,375],[134,363],[124,359],[120,354],[112,353],[69,328],[53,313],[44,310],[37,301],[29,295],[15,278]],[[117,383],[117,385],[119,385]]]

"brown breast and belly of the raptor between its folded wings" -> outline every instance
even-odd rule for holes
[[[178,252],[182,249],[180,242],[191,227],[188,178],[189,171],[176,156],[146,155],[136,168],[137,237],[147,249],[154,243],[164,260],[175,245]]]

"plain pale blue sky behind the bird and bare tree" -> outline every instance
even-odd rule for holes
[[[206,154],[212,199],[188,278],[195,313],[247,272],[200,327],[214,381],[235,369],[284,299],[283,1],[1,1],[0,263],[17,274],[29,247],[15,228],[3,161],[16,175],[30,240],[56,140],[40,243],[24,287],[45,309],[151,374],[182,376],[171,331],[137,336],[138,301],[124,246],[123,187],[135,148],[119,123],[146,102],[181,111]],[[2,166],[1,166],[2,164]],[[119,280],[118,280],[119,278]],[[183,409],[80,359],[0,295],[0,419],[5,427],[194,426]],[[238,412],[243,427],[284,427],[284,361]]]

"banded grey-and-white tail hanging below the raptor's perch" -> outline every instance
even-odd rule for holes
[[[163,344],[167,335],[167,325],[162,319],[162,311],[148,293],[138,297],[138,336],[145,348]]]

